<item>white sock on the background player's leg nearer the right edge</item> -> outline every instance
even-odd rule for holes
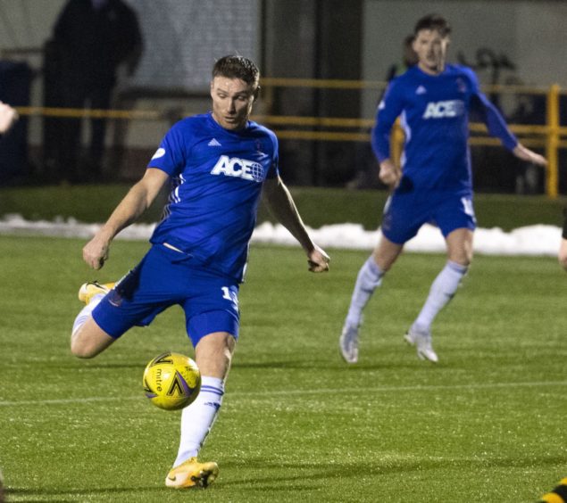
[[[416,330],[428,331],[433,319],[443,309],[447,302],[453,299],[463,276],[468,270],[467,266],[447,260],[445,268],[441,270],[429,289],[429,295],[419,316],[413,322]]]

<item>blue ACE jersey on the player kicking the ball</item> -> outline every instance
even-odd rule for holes
[[[278,176],[278,140],[249,121],[229,131],[211,112],[180,120],[148,168],[171,177],[152,243],[170,243],[200,265],[241,281],[266,178]]]

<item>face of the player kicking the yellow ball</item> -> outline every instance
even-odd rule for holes
[[[239,78],[217,76],[211,82],[213,119],[222,128],[236,130],[246,127],[254,103],[254,86]]]

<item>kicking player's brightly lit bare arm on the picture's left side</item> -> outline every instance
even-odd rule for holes
[[[162,169],[146,169],[144,177],[130,188],[129,193],[124,196],[104,226],[84,246],[83,260],[91,268],[99,269],[104,266],[114,236],[135,222],[154,202],[168,178],[169,175]]]

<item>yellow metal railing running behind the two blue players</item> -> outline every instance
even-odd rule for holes
[[[270,113],[274,102],[276,87],[305,87],[343,90],[375,89],[377,93],[386,88],[387,83],[369,80],[321,80],[313,78],[263,78],[263,103],[268,111],[265,115],[254,115],[253,119],[274,128],[281,139],[338,141],[338,142],[368,142],[373,119],[339,118],[339,117],[306,117],[279,116]],[[549,88],[522,86],[489,86],[484,91],[490,94],[522,94],[546,95],[546,124],[526,125],[510,124],[510,129],[520,136],[521,143],[530,148],[541,148],[545,151],[548,166],[546,169],[546,194],[555,198],[559,186],[559,149],[567,148],[567,127],[561,126],[559,99],[567,92],[554,84]],[[74,117],[74,118],[107,118],[115,120],[168,120],[171,116],[166,111],[150,110],[88,110],[64,109],[46,107],[17,107],[21,115],[45,117]],[[339,131],[329,131],[338,128]],[[487,135],[487,129],[482,123],[471,123],[471,145],[497,145],[496,138]],[[320,130],[324,129],[324,130]],[[404,143],[401,128],[396,127],[392,136],[392,154],[399,159]]]

